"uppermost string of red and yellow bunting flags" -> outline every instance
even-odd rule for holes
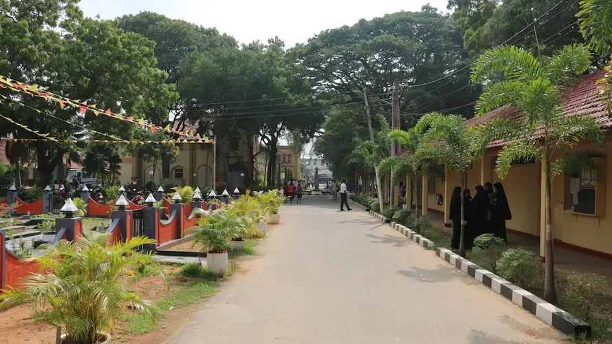
[[[153,125],[142,118],[135,119],[133,116],[124,117],[124,115],[122,114],[113,113],[111,109],[107,109],[107,110],[98,109],[98,107],[96,107],[95,104],[88,105],[87,100],[85,100],[84,102],[81,102],[80,100],[71,100],[70,98],[66,98],[64,96],[60,96],[58,94],[54,94],[49,91],[45,91],[44,89],[41,89],[39,85],[28,85],[25,83],[21,83],[20,81],[17,81],[17,80],[12,80],[11,78],[7,78],[6,76],[2,76],[2,75],[0,75],[0,85],[1,84],[3,84],[3,88],[6,85],[6,87],[8,87],[14,92],[21,92],[23,94],[28,94],[33,97],[41,97],[41,98],[44,98],[45,100],[52,100],[58,103],[58,105],[62,109],[68,106],[74,109],[78,109],[78,111],[82,115],[86,114],[87,111],[91,111],[96,116],[98,116],[99,114],[104,114],[105,116],[109,116],[111,118],[117,118],[119,120],[131,122],[134,125],[137,125],[140,127],[147,127],[152,132],[155,132],[157,130],[162,130],[162,131],[166,131],[167,133],[173,133],[179,136],[186,136],[186,138],[190,138],[194,136],[193,133],[189,133],[186,131],[177,131],[175,129],[172,129],[170,125],[166,125],[165,128],[157,127],[156,125]],[[212,143],[212,140],[205,140],[204,142]]]

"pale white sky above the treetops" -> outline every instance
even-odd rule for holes
[[[183,19],[215,27],[227,32],[240,43],[259,39],[262,42],[278,36],[287,47],[306,43],[314,34],[359,19],[382,17],[400,10],[418,11],[430,3],[447,12],[448,0],[82,0],[80,8],[88,17],[100,15],[114,19],[123,14],[153,11],[175,19]]]

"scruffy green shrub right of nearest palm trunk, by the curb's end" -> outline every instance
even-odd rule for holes
[[[597,274],[577,274],[567,276],[566,283],[560,292],[560,299],[564,304],[569,304],[579,313],[584,321],[591,321],[591,313],[596,308],[597,299],[602,297],[602,290],[606,288],[606,279]]]

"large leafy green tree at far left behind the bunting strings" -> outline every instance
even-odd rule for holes
[[[154,43],[139,34],[125,33],[112,21],[83,18],[73,0],[0,1],[0,66],[3,74],[50,91],[88,100],[89,104],[155,122],[168,117],[176,94],[167,76],[155,66]],[[41,98],[14,96],[26,105],[3,100],[0,111],[16,121],[56,138],[72,138],[96,129],[121,134],[133,125],[77,109],[61,108]],[[45,113],[62,120],[56,120]],[[67,124],[66,122],[69,122]],[[33,137],[19,127],[3,126],[4,135]],[[36,151],[39,184],[48,184],[69,147],[54,142],[32,144]]]

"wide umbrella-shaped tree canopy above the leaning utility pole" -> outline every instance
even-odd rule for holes
[[[367,87],[372,107],[386,112],[391,106],[382,100],[389,100],[395,80],[406,89],[400,109],[409,113],[458,107],[477,98],[467,73],[448,76],[466,65],[459,27],[430,6],[325,30],[294,47],[291,56],[318,92],[349,94],[361,103],[360,90]],[[444,79],[433,82],[439,78]],[[408,89],[428,82],[433,83]],[[471,114],[469,107],[461,110]],[[405,119],[414,125],[414,116]]]

